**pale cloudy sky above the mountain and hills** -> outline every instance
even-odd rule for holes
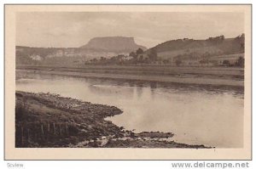
[[[134,37],[147,48],[178,38],[237,37],[244,14],[191,12],[20,12],[16,45],[77,48],[93,37]]]

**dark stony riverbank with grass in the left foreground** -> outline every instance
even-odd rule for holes
[[[108,116],[117,107],[51,93],[15,93],[15,147],[207,148],[169,141],[172,132],[134,133]]]

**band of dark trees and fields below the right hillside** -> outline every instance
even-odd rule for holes
[[[163,59],[157,53],[144,54],[138,48],[131,54],[119,54],[111,58],[101,57],[85,61],[85,65],[171,65],[171,66],[244,66],[244,54],[222,54],[208,57],[188,57],[180,59],[179,56]]]

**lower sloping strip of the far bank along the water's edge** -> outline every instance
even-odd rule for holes
[[[145,81],[145,82],[171,82],[181,84],[195,84],[195,85],[212,85],[212,86],[230,86],[230,87],[244,87],[244,81],[239,78],[231,78],[227,75],[190,75],[190,74],[175,74],[172,76],[164,75],[151,75],[151,74],[113,74],[113,73],[91,73],[81,71],[64,71],[64,70],[26,70],[16,69],[19,72],[35,72],[47,75],[58,76],[76,76],[76,77],[94,77],[94,78],[106,78],[106,79],[118,79],[118,80],[132,80],[132,81]]]

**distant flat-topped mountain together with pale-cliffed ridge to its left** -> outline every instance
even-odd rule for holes
[[[16,46],[17,64],[62,64],[84,63],[84,60],[111,58],[119,54],[128,55],[138,48],[133,37],[95,37],[80,48],[33,48]]]

